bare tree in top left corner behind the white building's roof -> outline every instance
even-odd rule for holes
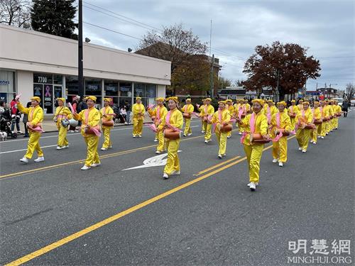
[[[1,0],[0,23],[20,28],[31,27],[31,1]]]

